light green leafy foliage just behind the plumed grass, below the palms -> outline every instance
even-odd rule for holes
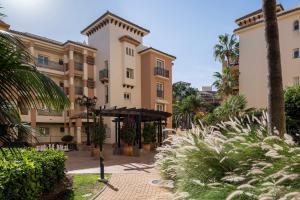
[[[230,96],[212,113],[206,115],[202,122],[206,125],[212,125],[221,121],[229,120],[230,117],[236,117],[245,112],[246,105],[247,101],[244,96]]]

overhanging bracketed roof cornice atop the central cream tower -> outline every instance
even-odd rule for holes
[[[132,23],[120,16],[117,16],[109,11],[104,13],[102,16],[100,16],[98,19],[96,19],[94,22],[92,22],[89,26],[84,28],[81,33],[84,35],[91,35],[98,29],[101,29],[103,26],[109,24],[109,23],[115,23],[115,25],[123,26],[123,28],[127,28],[130,31],[134,31],[135,33],[140,34],[141,36],[144,36],[150,31],[148,29],[145,29],[135,23]]]

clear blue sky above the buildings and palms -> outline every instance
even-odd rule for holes
[[[86,26],[107,10],[150,30],[144,44],[177,57],[173,82],[211,85],[221,64],[213,57],[218,35],[232,34],[235,19],[261,8],[262,0],[1,0],[11,29],[61,42],[83,42]],[[280,0],[285,9],[299,0]]]

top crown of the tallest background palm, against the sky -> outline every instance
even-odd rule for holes
[[[238,62],[239,42],[234,34],[219,35],[219,43],[214,46],[214,57],[225,64],[225,67]]]

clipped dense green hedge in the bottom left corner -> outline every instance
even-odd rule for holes
[[[4,149],[1,157],[0,199],[38,199],[65,177],[66,158],[61,151],[20,149],[14,155]]]

